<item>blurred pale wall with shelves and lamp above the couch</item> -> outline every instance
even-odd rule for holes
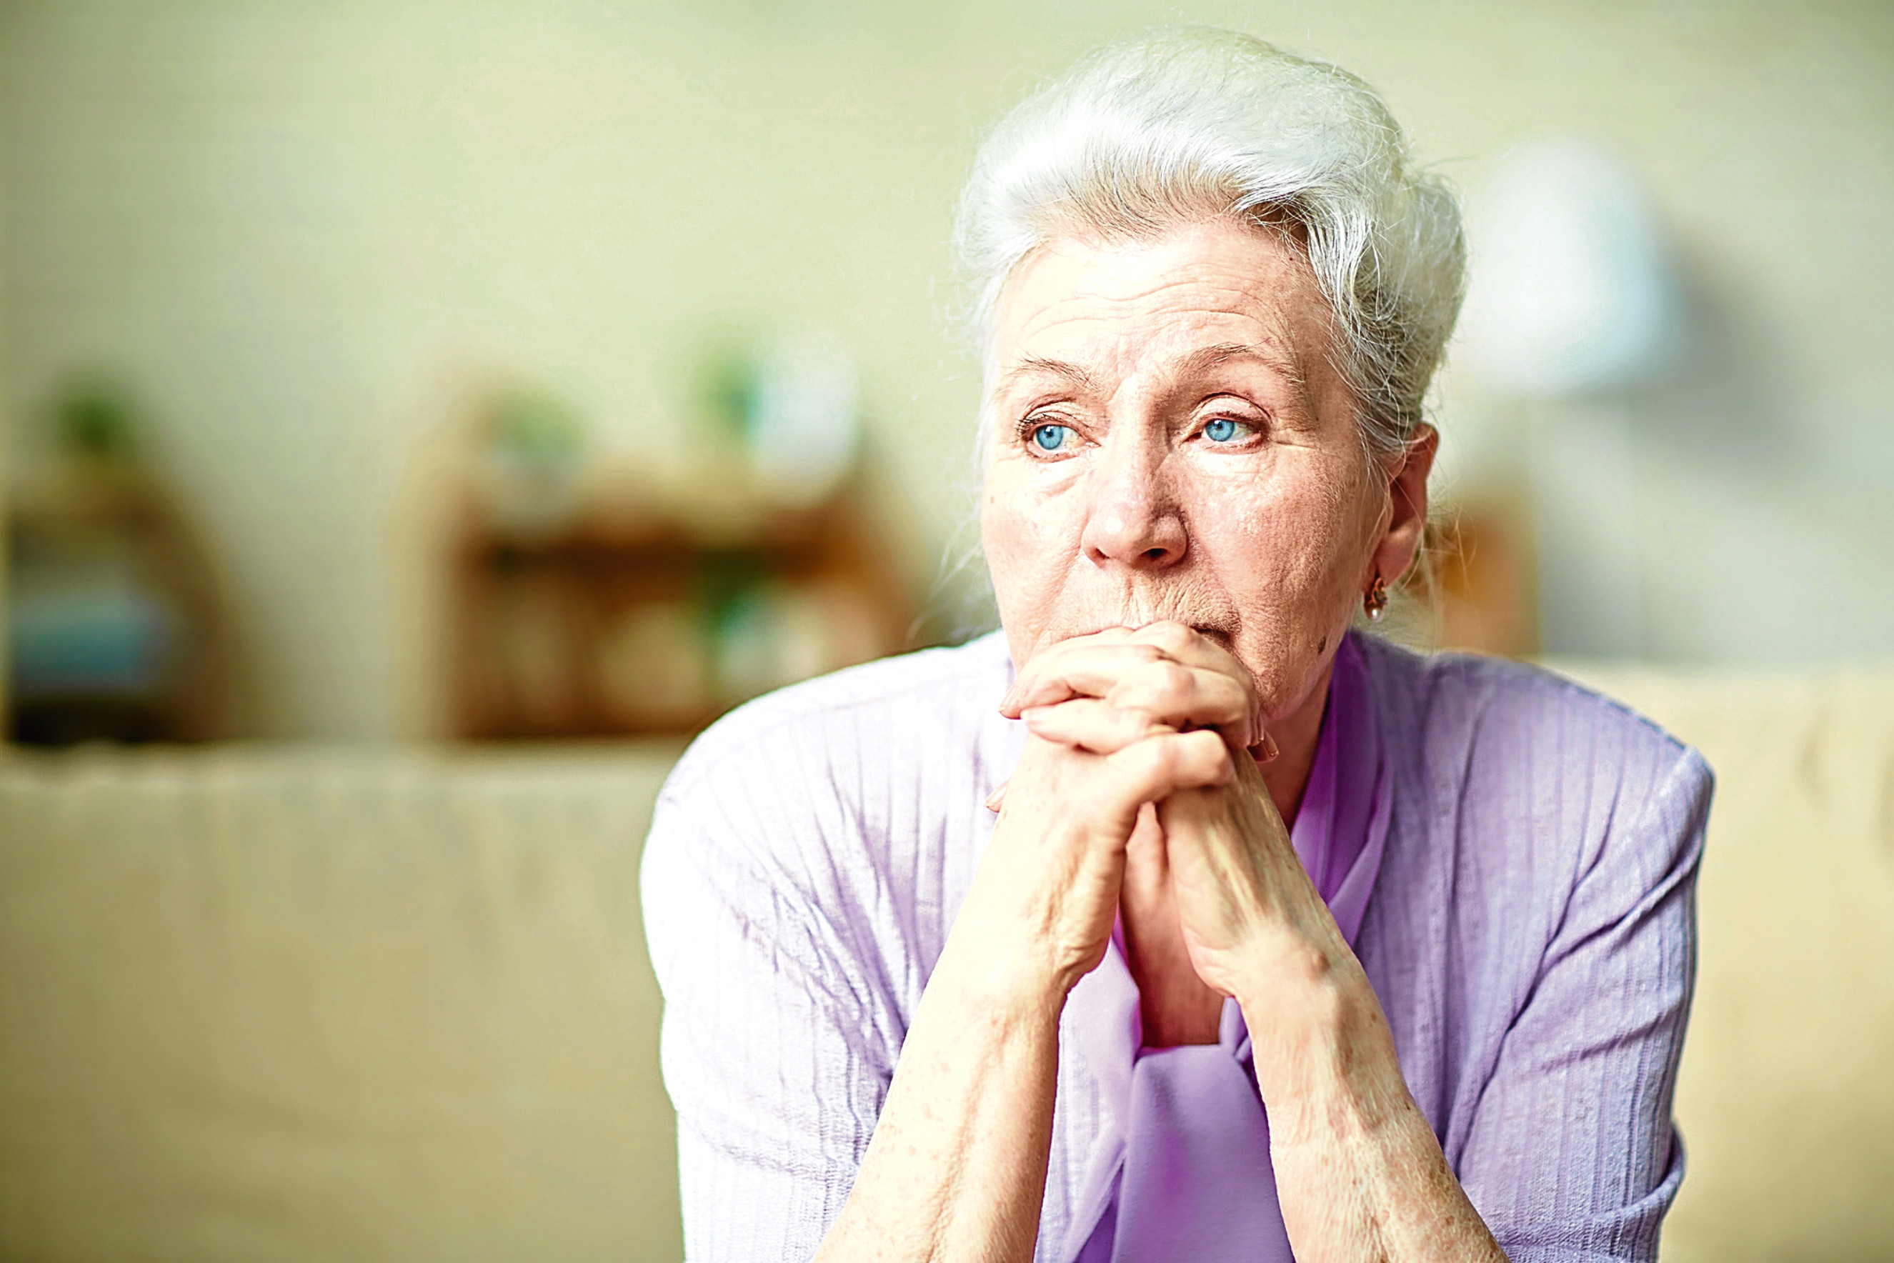
[[[13,2],[15,729],[688,729],[979,627],[955,189],[1163,21],[1360,72],[1485,229],[1447,640],[1888,651],[1883,4]],[[74,542],[100,494],[142,578]],[[186,678],[195,714],[32,718]]]

